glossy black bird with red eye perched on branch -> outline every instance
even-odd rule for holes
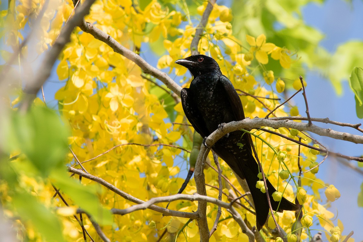
[[[222,123],[245,118],[241,99],[213,58],[195,55],[177,60],[175,63],[187,67],[194,77],[190,87],[181,90],[181,103],[189,122],[202,137],[209,136]],[[256,210],[256,227],[260,230],[266,222],[269,205],[266,194],[256,188],[256,182],[260,180],[257,177],[259,168],[252,155],[252,144],[247,135],[240,130],[234,131],[218,140],[212,149],[238,176],[246,179]],[[298,209],[284,197],[278,206],[279,202],[272,198],[276,189],[266,181],[271,205],[275,211]]]

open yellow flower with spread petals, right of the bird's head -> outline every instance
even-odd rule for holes
[[[269,58],[267,53],[272,51],[276,45],[272,43],[266,43],[265,34],[261,34],[256,39],[248,34],[246,34],[246,40],[248,44],[251,46],[251,50],[255,51],[255,56],[258,62],[261,64],[267,64],[269,62]]]

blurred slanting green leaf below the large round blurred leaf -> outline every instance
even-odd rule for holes
[[[98,193],[101,192],[101,189],[97,189],[97,186],[82,185],[80,182],[69,178],[64,171],[53,172],[51,178],[54,179],[57,188],[66,193],[76,205],[91,214],[100,225],[112,225],[110,210],[103,208],[98,199]]]

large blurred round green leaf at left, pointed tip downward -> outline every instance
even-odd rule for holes
[[[53,110],[35,106],[26,114],[13,112],[8,126],[5,147],[19,149],[42,175],[65,160],[69,133]]]

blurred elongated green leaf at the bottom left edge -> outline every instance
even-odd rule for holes
[[[57,216],[28,193],[16,193],[13,203],[22,220],[32,223],[43,236],[43,241],[64,241],[62,226]]]

